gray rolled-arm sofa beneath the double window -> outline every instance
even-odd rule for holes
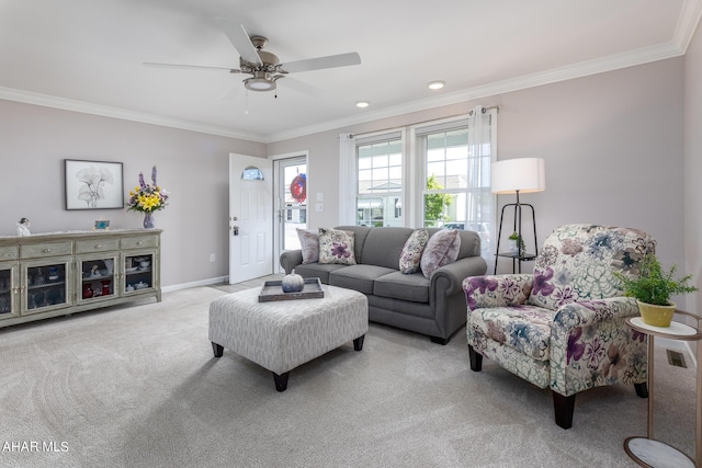
[[[437,270],[427,279],[421,271],[399,272],[399,258],[410,228],[339,226],[353,231],[355,265],[303,264],[301,250],[284,252],[281,266],[303,277],[319,277],[324,284],[359,290],[369,298],[370,320],[427,334],[434,343],[446,344],[466,321],[463,279],[483,275],[487,264],[480,256],[480,238],[460,230],[458,259]],[[428,228],[429,235],[438,229]]]

